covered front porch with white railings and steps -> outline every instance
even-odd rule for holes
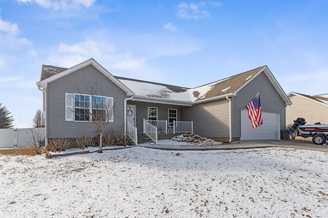
[[[193,121],[181,120],[177,104],[130,100],[126,106],[127,135],[137,144],[141,137],[157,143],[158,135],[193,133]]]

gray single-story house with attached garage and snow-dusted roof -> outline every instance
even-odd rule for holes
[[[69,69],[44,65],[37,86],[44,92],[47,139],[95,135],[88,120],[67,110],[78,113],[70,96],[87,95],[87,88],[95,83],[99,96],[115,102],[109,129],[122,131],[126,125],[129,129],[135,126],[141,134],[146,127],[156,126],[161,137],[194,132],[223,142],[280,139],[280,130],[285,129],[285,107],[291,104],[267,66],[189,89],[115,77],[94,59]],[[263,125],[252,129],[247,111],[240,110],[259,91]]]

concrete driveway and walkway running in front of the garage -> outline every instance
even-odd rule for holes
[[[244,140],[223,145],[139,144],[137,146],[160,150],[233,150],[264,147],[289,147],[328,152],[328,145],[315,145],[309,140]]]

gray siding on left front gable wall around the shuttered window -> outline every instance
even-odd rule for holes
[[[124,130],[124,99],[126,93],[116,84],[89,65],[48,83],[47,88],[47,135],[48,138],[95,136],[90,122],[65,121],[65,93],[88,94],[88,88],[96,85],[97,95],[113,97],[115,104],[114,122],[110,130]]]

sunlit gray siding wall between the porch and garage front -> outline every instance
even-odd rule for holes
[[[194,121],[195,134],[229,137],[229,101],[220,99],[191,107],[181,106],[181,121]]]

